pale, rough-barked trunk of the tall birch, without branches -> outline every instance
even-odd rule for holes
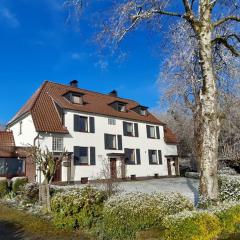
[[[217,107],[217,86],[212,61],[212,24],[209,0],[200,1],[199,54],[203,73],[200,93],[202,105],[202,144],[199,149],[200,195],[211,201],[218,200],[217,154],[220,124]]]

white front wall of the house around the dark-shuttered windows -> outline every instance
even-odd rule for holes
[[[78,114],[81,116],[93,116],[95,118],[95,133],[81,133],[73,130],[73,116]],[[74,146],[81,147],[95,147],[96,148],[96,165],[81,165],[74,166],[72,162],[71,180],[79,181],[82,177],[89,179],[101,178],[101,171],[103,169],[102,162],[106,161],[108,153],[124,153],[124,148],[140,149],[141,164],[140,165],[126,165],[127,176],[136,175],[154,176],[154,174],[168,175],[167,161],[165,155],[176,155],[177,149],[174,145],[166,145],[164,142],[163,127],[160,128],[160,139],[147,138],[146,123],[138,122],[139,137],[123,136],[123,121],[116,119],[116,125],[108,125],[108,117],[99,115],[79,114],[72,111],[65,112],[65,126],[68,128],[69,135],[62,135],[64,137],[64,147],[67,151],[73,152]],[[132,121],[128,121],[132,122]],[[151,125],[151,124],[149,124]],[[157,126],[157,125],[154,125]],[[123,150],[106,150],[104,144],[104,133],[122,135]],[[61,136],[61,135],[55,135]],[[46,145],[49,149],[52,148],[52,134],[45,135],[41,140],[41,145]],[[162,165],[149,165],[148,150],[161,150],[163,156]],[[119,163],[118,163],[119,164]],[[62,168],[62,180],[67,180],[66,167]]]

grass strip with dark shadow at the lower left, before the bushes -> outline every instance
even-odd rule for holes
[[[9,231],[7,231],[9,230]],[[6,239],[28,240],[89,240],[80,231],[63,231],[56,229],[51,222],[32,216],[22,211],[0,204],[0,235],[11,233]],[[7,238],[9,237],[9,238]],[[12,237],[12,238],[11,238]]]

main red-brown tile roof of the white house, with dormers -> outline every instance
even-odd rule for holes
[[[64,97],[68,92],[84,94],[85,104],[79,105],[70,102]],[[126,103],[127,112],[118,112],[109,104],[114,101]],[[56,105],[62,109],[73,110],[77,112],[94,113],[105,116],[118,117],[123,119],[147,122],[152,124],[164,125],[151,113],[142,116],[131,110],[139,103],[106,94],[96,93],[69,85],[63,85],[45,81],[43,85],[34,93],[29,101],[20,109],[20,111],[10,121],[11,125],[21,116],[31,113],[35,128],[38,132],[68,133],[66,127],[62,125]]]

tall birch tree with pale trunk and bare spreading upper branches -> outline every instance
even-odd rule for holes
[[[69,2],[69,1],[68,1]],[[72,1],[74,4],[83,1]],[[181,0],[181,12],[175,11],[173,0],[126,0],[116,3],[111,15],[105,20],[103,34],[104,44],[118,43],[132,30],[143,23],[157,27],[164,17],[183,21],[189,26],[196,39],[196,51],[199,56],[201,82],[199,115],[197,123],[201,132],[198,143],[200,159],[200,194],[212,201],[218,200],[217,154],[220,132],[218,112],[218,91],[216,69],[213,64],[215,48],[224,48],[233,56],[239,52],[239,0]],[[77,9],[77,8],[76,8]],[[221,10],[219,10],[221,9]],[[223,29],[223,30],[219,30]],[[183,49],[184,51],[184,49]]]

